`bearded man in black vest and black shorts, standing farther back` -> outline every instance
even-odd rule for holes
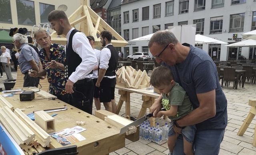
[[[111,43],[112,34],[109,31],[101,31],[100,42],[103,49],[100,53],[98,67],[98,80],[96,87],[100,87],[100,102],[103,102],[107,111],[116,113],[115,86],[118,52]]]

